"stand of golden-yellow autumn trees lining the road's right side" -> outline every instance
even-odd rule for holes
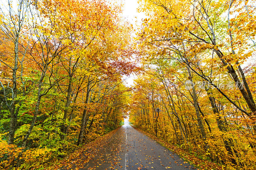
[[[158,92],[161,94],[161,100],[156,98],[155,103],[165,108],[167,118],[172,120],[170,122],[172,126],[168,128],[165,126],[163,129],[169,131],[172,129],[173,136],[178,138],[177,142],[183,141],[184,137],[190,135],[194,144],[203,139],[204,151],[200,149],[200,152],[204,152],[212,160],[227,158],[233,166],[248,167],[249,160],[244,163],[239,153],[242,153],[242,145],[246,148],[249,146],[250,154],[253,155],[254,152],[254,142],[252,142],[254,141],[252,129],[255,128],[253,118],[255,102],[252,88],[254,77],[252,74],[247,74],[247,77],[244,74],[252,70],[252,65],[244,69],[241,65],[248,57],[253,57],[255,50],[252,38],[254,34],[251,34],[254,28],[248,25],[251,19],[253,20],[250,10],[255,7],[247,1],[142,2],[140,9],[146,11],[149,18],[144,20],[137,40],[140,44],[142,61],[147,66],[146,75],[155,77]],[[233,15],[236,13],[239,15]],[[243,21],[241,16],[244,17]],[[249,30],[245,31],[247,29]],[[136,87],[142,84],[140,82]],[[191,88],[186,89],[188,84]],[[229,87],[227,90],[227,85],[233,88]],[[150,87],[150,85],[146,86]],[[146,87],[142,86],[142,88]],[[166,94],[161,93],[160,89]],[[138,96],[143,98],[140,93]],[[208,110],[208,106],[211,110]],[[175,115],[175,120],[170,113]],[[152,114],[154,116],[154,113]],[[143,115],[136,112],[133,112],[132,117],[132,119],[136,117],[144,120]],[[166,119],[164,113],[162,117]],[[193,123],[187,124],[184,117]],[[239,123],[235,123],[233,119]],[[148,124],[140,120],[139,126]],[[245,123],[245,120],[250,123]],[[176,121],[180,128],[175,125]],[[194,126],[195,121],[196,126]],[[212,124],[213,122],[216,122],[217,126]],[[239,127],[247,127],[245,129],[250,131],[250,135],[245,135],[240,130],[239,133],[250,139],[237,142],[237,136],[240,135],[236,134],[236,137],[230,135],[236,129],[233,123]],[[198,131],[193,131],[193,128]],[[217,136],[221,137],[224,143],[217,140],[216,128],[222,134]],[[164,134],[163,136],[165,137]],[[222,146],[228,154],[216,157],[214,154],[217,152],[213,151],[213,148]]]

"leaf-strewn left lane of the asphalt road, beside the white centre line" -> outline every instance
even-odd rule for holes
[[[122,128],[119,127],[53,165],[52,169],[106,169],[106,164],[117,164],[122,149]],[[104,167],[104,168],[103,168]]]

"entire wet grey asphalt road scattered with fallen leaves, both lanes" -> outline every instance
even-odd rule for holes
[[[194,166],[125,121],[111,137],[102,140],[94,149],[83,151],[61,169],[188,170]]]

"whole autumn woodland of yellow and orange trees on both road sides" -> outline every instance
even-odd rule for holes
[[[256,2],[139,4],[136,30],[114,1],[1,6],[1,168],[47,169],[129,116],[187,154],[256,169]]]

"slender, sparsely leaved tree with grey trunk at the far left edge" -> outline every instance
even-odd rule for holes
[[[3,64],[8,68],[12,70],[12,78],[3,78],[4,84],[8,82],[7,86],[4,86],[4,84],[1,83],[1,86],[3,88],[3,97],[4,102],[6,106],[8,107],[10,114],[11,114],[11,120],[10,120],[10,126],[9,126],[9,136],[8,136],[8,144],[13,144],[14,142],[14,133],[15,128],[17,124],[17,118],[18,113],[20,109],[20,105],[22,102],[22,99],[18,97],[19,89],[18,89],[18,82],[22,82],[22,93],[23,97],[25,95],[25,86],[24,86],[24,80],[23,80],[23,62],[24,57],[26,54],[26,49],[20,51],[20,42],[26,40],[23,36],[23,33],[25,33],[25,25],[26,25],[26,15],[28,13],[28,5],[30,4],[30,1],[19,1],[17,9],[12,8],[12,4],[10,1],[8,1],[7,5],[7,12],[6,9],[3,7],[1,8],[1,11],[4,15],[1,15],[1,32],[6,36],[6,38],[9,40],[8,45],[12,46],[13,53],[11,55],[1,55],[1,62],[2,67]],[[23,40],[21,39],[23,38]],[[13,60],[8,60],[8,57],[12,57]],[[7,73],[7,70],[4,70],[5,74]],[[17,77],[18,74],[18,77]],[[12,86],[9,86],[9,84],[12,84]],[[11,90],[11,100],[8,101],[9,95],[7,94],[7,90]]]

